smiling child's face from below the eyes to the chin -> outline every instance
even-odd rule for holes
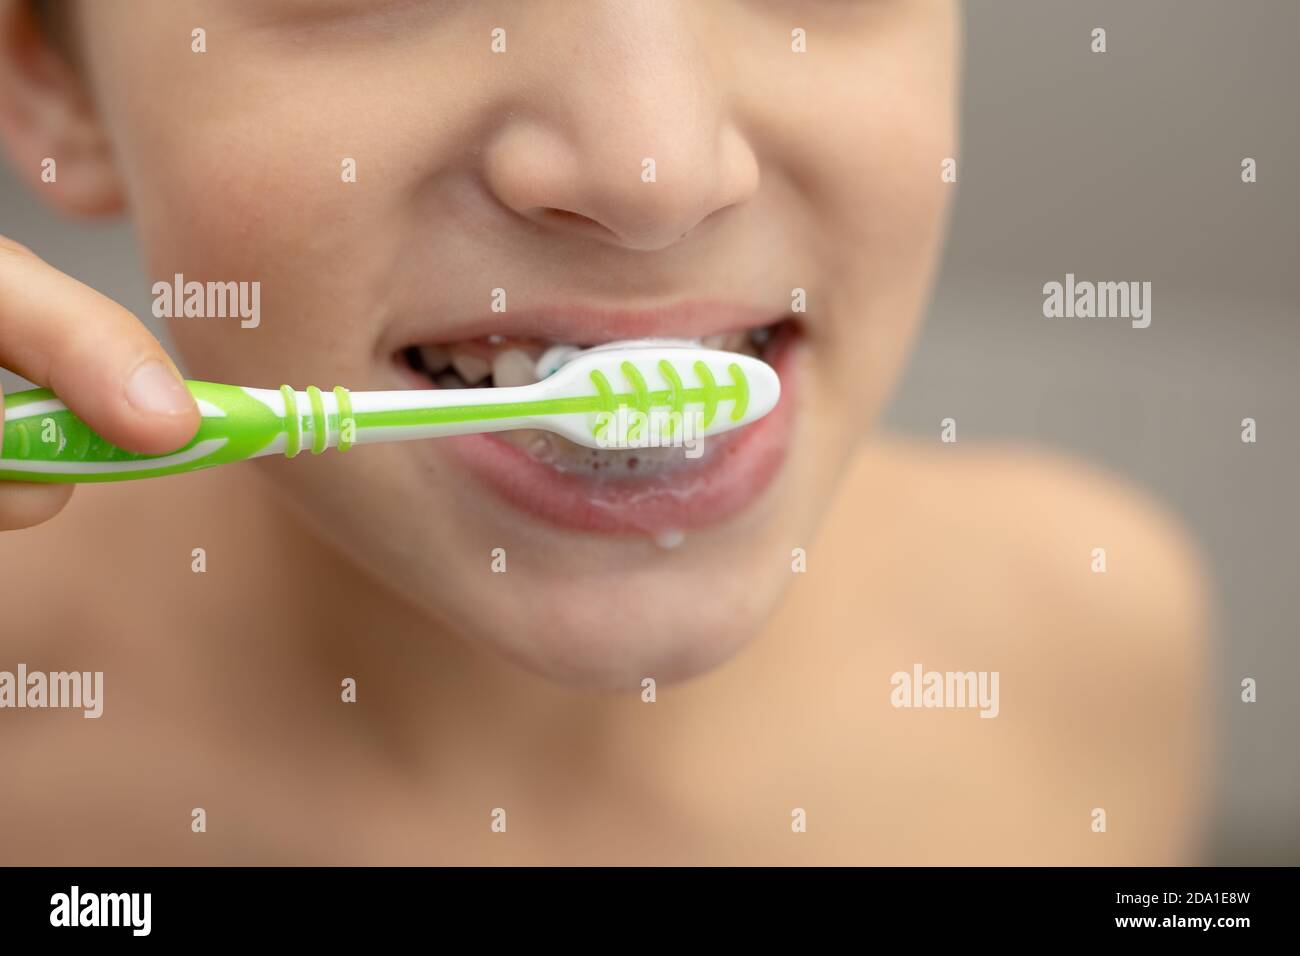
[[[395,598],[552,676],[686,676],[755,633],[923,304],[956,150],[948,0],[125,13],[83,4],[81,40],[151,280],[261,284],[256,329],[172,321],[191,377],[417,388],[410,346],[707,336],[794,312],[781,408],[698,462],[593,471],[533,449],[558,471],[474,437],[257,466]]]

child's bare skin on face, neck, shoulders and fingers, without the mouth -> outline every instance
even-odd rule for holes
[[[800,421],[760,498],[671,553],[541,525],[402,445],[79,489],[6,538],[0,661],[104,670],[110,700],[95,724],[0,715],[22,726],[10,858],[1192,858],[1206,609],[1186,536],[1074,463],[872,432],[942,238],[953,5],[801,8],[797,62],[779,3],[135,5],[78,8],[69,68],[0,4],[0,134],[29,173],[65,157],[42,187],[64,209],[129,204],[151,276],[261,281],[257,329],[173,321],[191,377],[394,388],[395,349],[497,286],[512,308],[774,316],[800,286]],[[508,55],[464,42],[498,25]],[[94,295],[0,250],[4,364],[124,446],[182,444],[192,408],[122,398],[161,351]],[[32,525],[66,494],[6,486],[0,515]],[[892,708],[918,661],[998,670],[1002,713]],[[69,767],[99,773],[70,788]],[[192,806],[220,826],[191,834]]]

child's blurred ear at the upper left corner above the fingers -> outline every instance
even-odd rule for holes
[[[0,0],[0,144],[55,208],[107,216],[124,206],[112,147],[82,72],[25,0]]]

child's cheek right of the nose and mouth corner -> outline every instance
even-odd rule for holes
[[[954,189],[941,164],[957,150],[950,4],[849,13],[838,33],[810,30],[816,56],[810,46],[797,69],[770,70],[746,100],[807,258],[807,397],[844,438],[879,415],[904,367]]]

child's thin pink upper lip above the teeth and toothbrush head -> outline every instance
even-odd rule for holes
[[[400,338],[395,350],[486,336],[601,345],[625,338],[698,338],[762,328],[785,317],[785,313],[770,308],[705,299],[634,308],[566,304],[490,313],[459,323],[416,320],[394,329],[394,334]]]

